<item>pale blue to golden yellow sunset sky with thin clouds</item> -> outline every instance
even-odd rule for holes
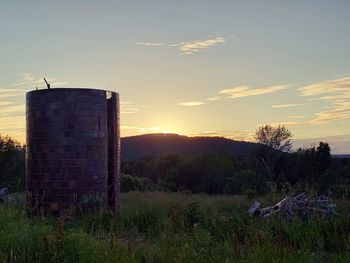
[[[121,97],[122,136],[254,140],[350,153],[350,1],[1,1],[0,134],[25,142],[25,92]]]

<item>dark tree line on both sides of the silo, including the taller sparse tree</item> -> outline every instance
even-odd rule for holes
[[[121,191],[190,191],[263,195],[312,189],[350,197],[350,159],[331,157],[328,143],[291,151],[291,132],[265,125],[256,131],[258,150],[249,157],[203,153],[147,157],[121,164]],[[0,187],[24,190],[25,147],[0,136]]]

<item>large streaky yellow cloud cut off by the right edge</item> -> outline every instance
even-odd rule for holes
[[[299,95],[309,100],[323,100],[326,110],[318,112],[310,124],[325,124],[350,119],[350,77],[326,80],[299,88]]]

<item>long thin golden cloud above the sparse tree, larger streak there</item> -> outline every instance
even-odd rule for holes
[[[259,89],[254,89],[248,86],[238,86],[234,88],[220,90],[219,93],[228,95],[228,98],[236,99],[248,96],[270,94],[280,90],[284,90],[286,88],[288,88],[288,85],[277,85]]]

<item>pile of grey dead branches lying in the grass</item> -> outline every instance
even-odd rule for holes
[[[255,202],[248,210],[250,215],[260,218],[268,218],[272,215],[280,215],[289,220],[296,218],[307,219],[314,214],[327,216],[335,214],[335,204],[330,203],[328,197],[320,195],[309,197],[305,193],[295,196],[287,196],[277,204],[260,208],[260,203]]]

